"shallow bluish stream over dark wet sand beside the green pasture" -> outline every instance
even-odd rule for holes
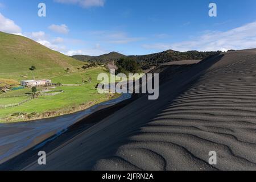
[[[89,109],[77,113],[62,115],[55,118],[39,119],[38,121],[19,123],[0,123],[0,164],[22,154],[51,137],[58,137],[67,131],[68,127],[82,121],[99,110],[111,107],[119,102],[129,99],[123,95],[111,101],[102,102]],[[90,126],[90,122],[87,122]],[[42,145],[42,144],[41,144]]]

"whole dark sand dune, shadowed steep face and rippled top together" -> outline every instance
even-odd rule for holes
[[[139,98],[24,169],[256,170],[256,49],[176,74],[159,100]]]

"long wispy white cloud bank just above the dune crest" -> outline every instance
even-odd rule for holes
[[[193,40],[165,44],[144,44],[147,49],[174,49],[176,51],[227,51],[229,49],[247,49],[256,47],[256,22],[245,24],[229,31],[211,31]]]

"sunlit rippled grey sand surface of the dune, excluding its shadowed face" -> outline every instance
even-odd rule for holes
[[[95,168],[255,170],[256,56],[238,57],[229,64],[235,57],[225,55]],[[208,164],[209,151],[217,152],[216,166]]]

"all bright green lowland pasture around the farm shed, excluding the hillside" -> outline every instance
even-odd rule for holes
[[[74,108],[79,107],[80,105],[86,105],[89,102],[97,104],[99,102],[106,101],[110,97],[109,94],[98,94],[97,89],[95,88],[99,82],[97,81],[97,76],[100,73],[108,73],[108,71],[106,71],[104,67],[96,67],[82,72],[65,73],[62,76],[52,77],[51,79],[53,82],[61,82],[61,84],[82,84],[82,78],[87,80],[89,77],[92,77],[92,82],[80,86],[60,86],[55,89],[63,90],[64,92],[57,94],[56,96],[40,96],[35,100],[17,107],[0,109],[0,122],[16,121],[17,119],[20,120],[21,118],[11,117],[14,113],[42,114],[47,111],[69,113],[72,109],[76,111]],[[16,96],[27,93],[31,93],[30,88],[14,90],[7,94],[0,94],[0,97],[1,95]],[[5,101],[3,102],[3,100]],[[12,104],[17,100],[19,100],[19,97],[2,98],[2,100],[0,99],[0,105]]]

